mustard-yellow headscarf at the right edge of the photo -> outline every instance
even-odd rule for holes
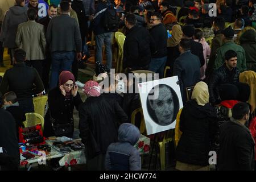
[[[250,85],[251,94],[248,102],[251,105],[251,113],[253,113],[256,107],[256,73],[254,71],[242,72],[240,73],[239,80]]]

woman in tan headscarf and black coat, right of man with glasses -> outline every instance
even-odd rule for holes
[[[170,72],[167,72],[166,77],[174,75],[174,61],[179,57],[179,42],[182,38],[182,30],[179,24],[175,24],[172,27],[171,38],[167,40],[167,62],[166,66],[169,66]]]

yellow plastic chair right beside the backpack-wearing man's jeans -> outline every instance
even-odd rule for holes
[[[121,73],[123,69],[123,44],[125,43],[125,35],[123,35],[122,32],[117,33],[116,40],[118,44],[118,61],[116,69],[117,73]]]

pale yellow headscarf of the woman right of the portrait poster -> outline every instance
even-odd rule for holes
[[[208,85],[205,82],[198,82],[192,92],[192,100],[196,100],[197,104],[204,106],[209,102],[209,90]]]

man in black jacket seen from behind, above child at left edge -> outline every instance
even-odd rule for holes
[[[13,91],[16,93],[19,106],[24,113],[34,113],[32,95],[42,94],[43,82],[35,68],[24,63],[26,52],[16,49],[14,52],[14,67],[7,69],[0,85],[0,94]]]

